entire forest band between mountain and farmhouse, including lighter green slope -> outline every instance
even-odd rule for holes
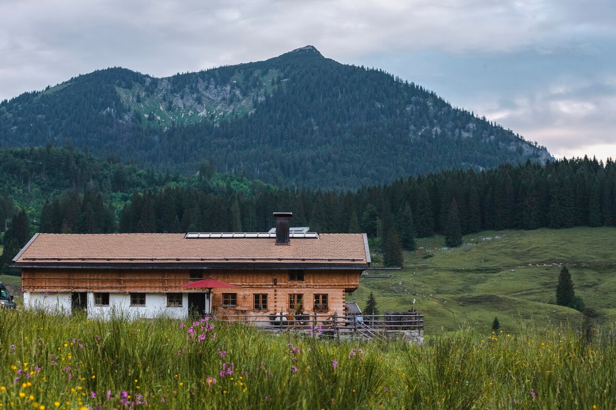
[[[267,231],[274,211],[292,211],[293,225],[311,231],[366,232],[386,255],[436,233],[457,246],[487,229],[616,226],[612,160],[441,171],[340,192],[274,187],[216,173],[209,162],[182,176],[51,146],[0,157],[5,270],[33,232]]]

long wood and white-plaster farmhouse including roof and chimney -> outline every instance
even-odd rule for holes
[[[290,232],[291,216],[274,213],[264,233],[36,234],[13,259],[23,304],[89,317],[343,314],[370,266],[366,234]],[[185,287],[206,278],[237,287]]]

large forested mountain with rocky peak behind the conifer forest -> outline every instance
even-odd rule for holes
[[[0,103],[0,146],[47,143],[185,174],[209,160],[219,171],[327,189],[551,159],[434,92],[310,45],[164,78],[108,68]]]

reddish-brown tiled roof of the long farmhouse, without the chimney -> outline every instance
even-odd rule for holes
[[[199,238],[185,234],[37,234],[14,262],[127,264],[156,262],[366,265],[363,234],[320,234],[275,245],[274,238]]]

